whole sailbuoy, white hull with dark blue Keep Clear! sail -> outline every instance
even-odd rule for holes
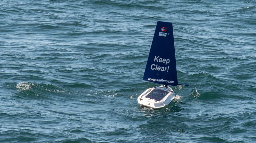
[[[188,86],[178,84],[172,23],[157,22],[143,80],[162,85],[147,89],[137,99],[141,107],[153,109],[163,108],[175,98],[168,85]]]

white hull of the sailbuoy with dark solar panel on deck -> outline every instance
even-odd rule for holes
[[[138,97],[140,106],[146,106],[153,109],[163,108],[175,98],[175,93],[171,87],[152,87],[144,91]]]

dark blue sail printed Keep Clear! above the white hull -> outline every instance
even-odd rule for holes
[[[156,24],[143,80],[178,84],[172,23],[158,21]]]

